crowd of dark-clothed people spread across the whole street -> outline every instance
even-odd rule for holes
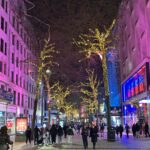
[[[35,145],[49,145],[49,144],[61,144],[62,137],[67,139],[68,143],[73,143],[73,135],[81,135],[83,141],[84,149],[88,148],[88,138],[91,138],[91,142],[93,144],[93,149],[96,147],[97,138],[99,137],[99,131],[101,138],[104,137],[104,129],[105,124],[101,123],[99,126],[96,123],[91,124],[64,124],[63,127],[60,125],[53,124],[52,126],[45,128],[38,128],[37,126],[32,132],[30,126],[27,127],[25,131],[26,136],[26,144],[31,144],[32,134]],[[132,131],[133,137],[141,137],[144,135],[145,137],[150,137],[149,133],[149,125],[148,123],[143,123],[142,125],[137,122],[129,127],[126,124],[124,127],[120,124],[116,126],[116,135],[122,138],[123,132],[126,133],[127,138],[129,138],[129,133]],[[8,150],[9,145],[13,145],[13,142],[10,140],[8,135],[8,129],[6,126],[1,127],[0,129],[0,150]]]

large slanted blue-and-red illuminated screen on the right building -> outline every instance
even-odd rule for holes
[[[147,91],[148,64],[143,65],[135,74],[122,84],[123,101]]]

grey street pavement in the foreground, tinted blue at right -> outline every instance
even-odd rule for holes
[[[89,138],[88,150],[92,150],[91,140]],[[73,143],[68,144],[66,139],[63,139],[62,144],[49,145],[49,146],[38,146],[25,145],[18,149],[13,150],[83,150],[82,137],[81,135],[75,135],[73,137]],[[134,139],[132,136],[129,139],[123,136],[122,139],[117,138],[115,142],[108,142],[106,137],[102,139],[99,137],[97,150],[150,150],[150,138],[139,138]]]

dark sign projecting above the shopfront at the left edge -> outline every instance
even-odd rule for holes
[[[14,100],[14,96],[12,93],[0,88],[0,99],[12,102]]]

